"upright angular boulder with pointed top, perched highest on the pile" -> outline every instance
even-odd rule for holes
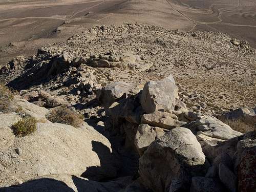
[[[146,113],[155,111],[172,111],[175,109],[178,88],[172,75],[158,81],[145,84],[140,103]]]

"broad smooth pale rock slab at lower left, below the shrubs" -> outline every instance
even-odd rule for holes
[[[23,102],[34,117],[45,113]],[[10,126],[19,119],[17,114],[0,114],[0,186],[54,174],[83,174],[97,180],[116,176],[110,142],[88,124],[78,129],[46,120],[37,123],[32,135],[15,137]]]

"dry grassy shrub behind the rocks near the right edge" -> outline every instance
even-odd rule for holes
[[[224,119],[223,122],[228,124],[234,131],[247,133],[253,130],[253,125],[245,123],[242,119]]]

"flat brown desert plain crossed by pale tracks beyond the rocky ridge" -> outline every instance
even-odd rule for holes
[[[0,0],[0,65],[65,40],[84,27],[125,22],[181,31],[221,31],[256,47],[256,3],[252,0],[214,4],[210,0]]]

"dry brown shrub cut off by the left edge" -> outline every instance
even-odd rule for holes
[[[10,103],[14,95],[12,91],[3,83],[0,83],[0,111],[6,112],[10,110]]]

